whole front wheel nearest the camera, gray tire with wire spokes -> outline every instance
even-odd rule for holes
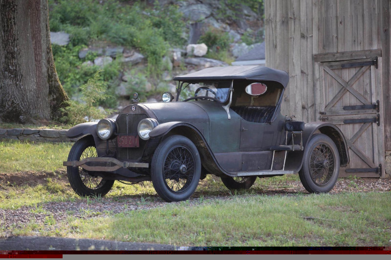
[[[200,176],[201,159],[190,139],[172,135],[158,145],[152,157],[151,179],[163,200],[187,200],[197,188]]]

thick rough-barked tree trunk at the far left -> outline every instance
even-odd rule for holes
[[[51,119],[68,100],[54,66],[47,0],[0,0],[0,118]]]

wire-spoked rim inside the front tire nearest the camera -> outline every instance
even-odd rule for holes
[[[170,191],[185,192],[194,177],[195,161],[185,146],[175,146],[166,155],[163,164],[163,179]]]

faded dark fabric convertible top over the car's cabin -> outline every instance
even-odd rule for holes
[[[176,76],[174,80],[228,80],[248,79],[259,81],[276,81],[284,88],[287,87],[289,75],[283,70],[271,69],[259,65],[213,67],[199,70],[183,76]]]

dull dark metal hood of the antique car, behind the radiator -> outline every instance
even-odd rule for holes
[[[210,106],[216,107],[221,104],[211,101],[187,101],[187,102],[156,102],[140,103],[146,110],[151,111],[159,123],[170,121],[181,121],[187,123],[209,123],[207,110],[198,103],[210,103]],[[213,103],[213,104],[212,104]],[[207,105],[206,105],[207,106]]]

